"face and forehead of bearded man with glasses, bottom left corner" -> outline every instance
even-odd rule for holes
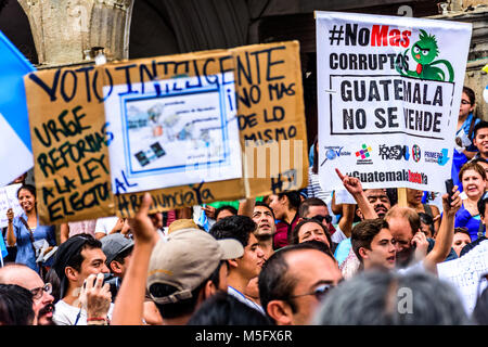
[[[44,286],[44,282],[39,274],[30,269],[20,269],[15,280],[12,281],[12,284],[17,284],[28,291],[37,290],[37,292],[42,293],[41,297],[33,298],[33,309],[35,313],[34,324],[36,324],[37,321],[38,325],[51,325],[52,313],[54,311],[54,297],[43,290],[38,290]]]

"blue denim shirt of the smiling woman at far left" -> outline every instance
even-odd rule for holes
[[[21,221],[20,217],[23,217],[25,221],[27,221],[27,216],[25,214],[22,214],[21,216],[15,217],[12,222],[17,246],[17,256],[15,257],[15,262],[25,264],[34,271],[39,272],[39,268],[36,264],[36,254],[34,253],[33,243],[29,236],[30,232]],[[34,241],[46,239],[50,246],[56,245],[55,227],[39,226],[39,218],[37,218],[37,227],[35,230],[33,230],[33,234]],[[52,257],[48,260],[48,266],[49,262],[52,262]]]

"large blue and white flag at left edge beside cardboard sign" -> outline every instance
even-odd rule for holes
[[[34,166],[24,75],[36,70],[0,31],[0,187]]]

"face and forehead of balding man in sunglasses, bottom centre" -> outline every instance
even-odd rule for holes
[[[296,307],[293,313],[293,325],[310,324],[310,321],[320,305],[313,292],[321,285],[337,285],[342,281],[341,270],[331,257],[317,249],[301,249],[286,256],[288,274],[296,280],[291,298]],[[304,295],[306,294],[306,295]]]

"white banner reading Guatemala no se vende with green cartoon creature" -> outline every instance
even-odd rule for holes
[[[444,192],[471,24],[316,12],[319,175]]]

